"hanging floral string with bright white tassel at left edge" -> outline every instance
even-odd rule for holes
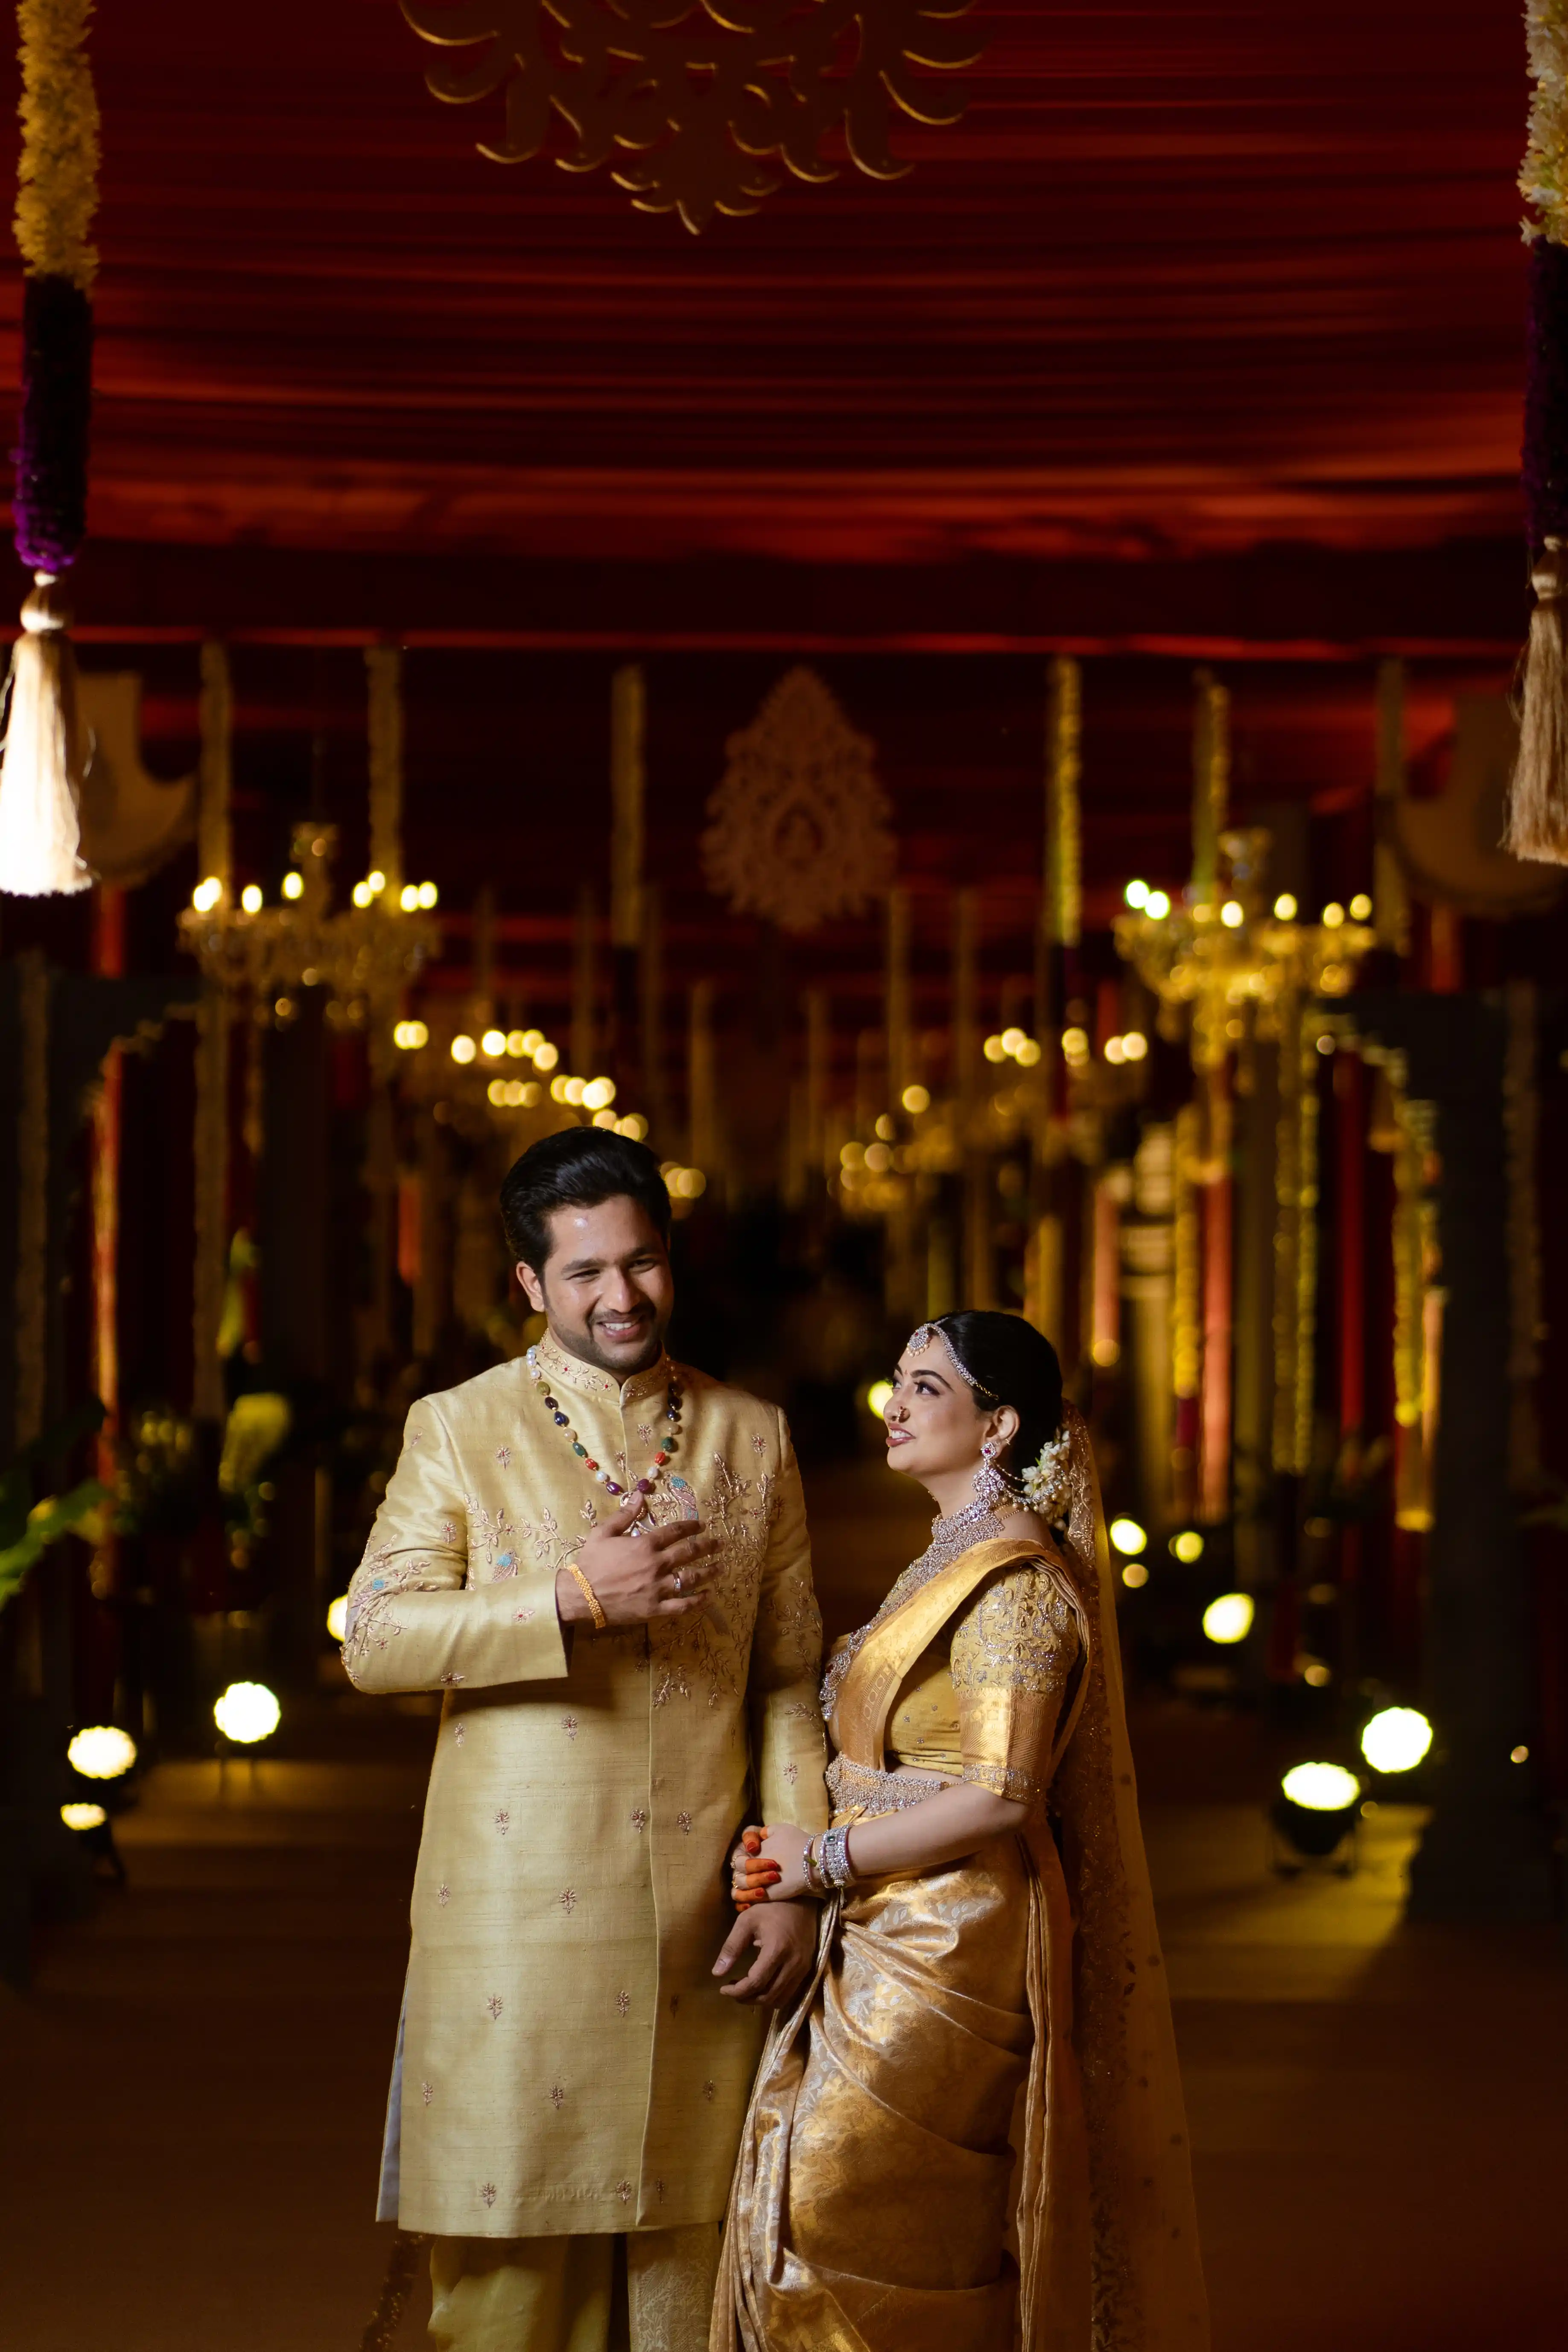
[[[87,529],[92,282],[99,256],[99,103],[87,68],[92,0],[19,0],[24,263],[16,553],[33,574],[12,654],[0,757],[0,889],[87,889],[80,856],[82,739],[61,574]]]

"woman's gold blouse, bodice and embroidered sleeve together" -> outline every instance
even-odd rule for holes
[[[1039,1804],[1077,1663],[1077,1621],[1056,1581],[1037,1564],[999,1569],[898,1686],[889,1764]]]

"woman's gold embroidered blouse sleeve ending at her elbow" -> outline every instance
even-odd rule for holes
[[[1056,1724],[1079,1661],[1072,1604],[1039,1564],[1001,1569],[952,1632],[961,1778],[1016,1804],[1046,1795]]]

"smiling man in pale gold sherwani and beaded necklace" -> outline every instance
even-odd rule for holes
[[[435,2237],[447,2352],[701,2352],[759,2004],[813,1947],[726,1893],[741,1823],[827,1820],[799,1472],[663,1352],[644,1145],[550,1136],[501,1207],[545,1338],[414,1404],[348,1592],[355,1684],[444,1691],[381,2216]]]

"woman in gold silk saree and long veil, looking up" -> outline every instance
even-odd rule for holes
[[[741,2138],[712,2352],[1204,2352],[1208,2312],[1088,1435],[1011,1315],[910,1338],[929,1550],[832,1653],[816,1978]]]

